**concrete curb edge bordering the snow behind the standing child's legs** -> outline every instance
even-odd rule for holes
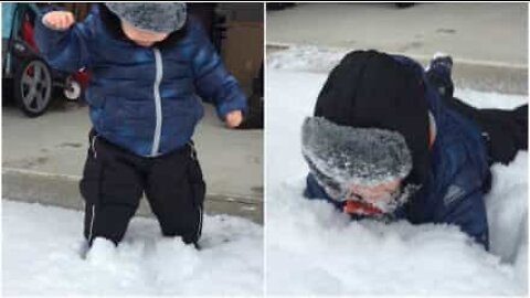
[[[81,177],[35,172],[22,169],[2,169],[2,200],[41,203],[66,209],[83,210],[80,194]],[[263,204],[253,198],[206,193],[208,214],[242,216],[263,225]],[[140,201],[136,213],[152,217],[147,200]]]

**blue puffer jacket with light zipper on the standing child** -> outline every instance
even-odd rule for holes
[[[46,62],[92,72],[85,98],[94,129],[139,156],[160,156],[191,139],[203,116],[195,94],[213,102],[221,118],[246,111],[245,95],[193,18],[181,40],[160,47],[116,39],[98,9],[67,31],[51,30],[41,18],[35,40]]]

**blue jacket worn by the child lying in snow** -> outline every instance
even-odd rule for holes
[[[425,79],[421,65],[404,56],[394,58],[412,65],[423,77],[425,99],[436,123],[436,139],[431,149],[432,162],[426,184],[391,217],[405,219],[414,224],[455,224],[488,249],[484,187],[488,183],[490,172],[480,130],[474,123],[443,105]],[[342,205],[324,191],[312,174],[307,177],[305,195],[326,199],[338,209]]]

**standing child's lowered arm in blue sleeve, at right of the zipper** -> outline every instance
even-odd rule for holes
[[[229,127],[239,126],[247,110],[245,94],[226,71],[206,34],[193,19],[190,19],[189,30],[190,34],[194,34],[199,47],[193,56],[198,94],[204,100],[215,104],[218,116],[225,120]]]

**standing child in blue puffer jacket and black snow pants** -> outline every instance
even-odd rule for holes
[[[53,67],[92,72],[84,235],[118,244],[145,192],[162,234],[197,245],[205,185],[191,142],[203,115],[195,92],[229,127],[241,124],[246,98],[186,3],[96,8],[78,23],[47,12],[35,29]]]

